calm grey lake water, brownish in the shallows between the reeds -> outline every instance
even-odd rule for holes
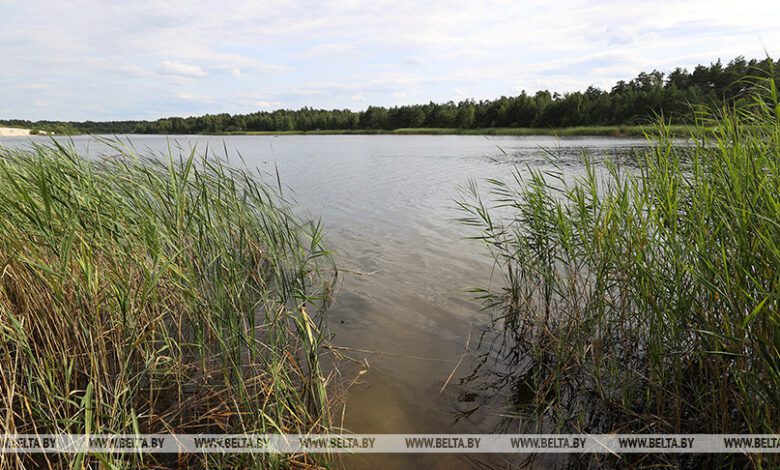
[[[340,363],[341,379],[359,379],[348,390],[344,410],[344,427],[356,433],[488,433],[496,425],[489,406],[456,419],[458,409],[484,401],[464,393],[458,379],[476,366],[473,353],[489,324],[465,290],[487,286],[492,268],[483,247],[464,239],[473,229],[454,220],[460,216],[454,203],[458,188],[471,178],[508,180],[515,167],[551,167],[551,158],[573,176],[582,170],[583,151],[598,160],[646,145],[641,139],[602,137],[122,138],[139,151],[166,151],[178,143],[224,155],[226,148],[234,164],[242,164],[240,153],[243,164],[268,173],[270,181],[278,169],[296,210],[322,219],[344,271],[328,325],[333,344],[349,357]],[[30,141],[6,137],[0,145]],[[90,137],[73,142],[92,155],[111,153]],[[465,354],[467,346],[472,354]],[[410,462],[469,465],[447,455],[359,455],[345,461],[349,467]]]

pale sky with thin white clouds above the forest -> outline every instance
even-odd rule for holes
[[[609,89],[767,53],[780,56],[777,0],[0,0],[0,119]]]

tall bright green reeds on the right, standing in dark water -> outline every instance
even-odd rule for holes
[[[780,429],[774,81],[699,122],[714,131],[692,144],[661,125],[635,167],[586,159],[575,181],[518,169],[514,183],[490,182],[495,206],[476,183],[461,201],[505,276],[480,297],[502,325],[493,357],[509,360],[500,380],[513,396],[514,432]],[[582,458],[597,467],[611,457]],[[637,466],[691,459],[778,463],[761,454],[622,456]]]

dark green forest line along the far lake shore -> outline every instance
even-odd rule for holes
[[[54,122],[0,120],[0,125],[24,127],[57,134],[201,134],[283,131],[382,131],[401,128],[497,127],[563,128],[646,123],[662,115],[675,123],[691,120],[696,105],[720,105],[743,98],[752,77],[778,78],[780,60],[746,60],[737,57],[723,65],[720,60],[698,65],[692,71],[677,68],[664,74],[642,72],[629,81],[619,81],[611,90],[589,87],[574,93],[551,93],[495,100],[464,100],[458,103],[428,103],[365,111],[349,109],[280,109],[251,114],[207,114],[170,117],[156,121]]]

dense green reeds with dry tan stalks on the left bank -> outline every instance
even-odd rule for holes
[[[116,145],[102,160],[58,144],[0,148],[0,434],[326,432],[319,345],[333,266],[319,226],[208,153]],[[5,454],[0,465],[160,459]]]

